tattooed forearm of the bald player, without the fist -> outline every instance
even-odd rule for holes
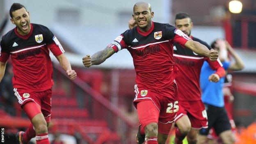
[[[98,65],[103,63],[107,58],[115,53],[113,48],[107,47],[104,50],[98,51],[91,56],[91,65]]]

